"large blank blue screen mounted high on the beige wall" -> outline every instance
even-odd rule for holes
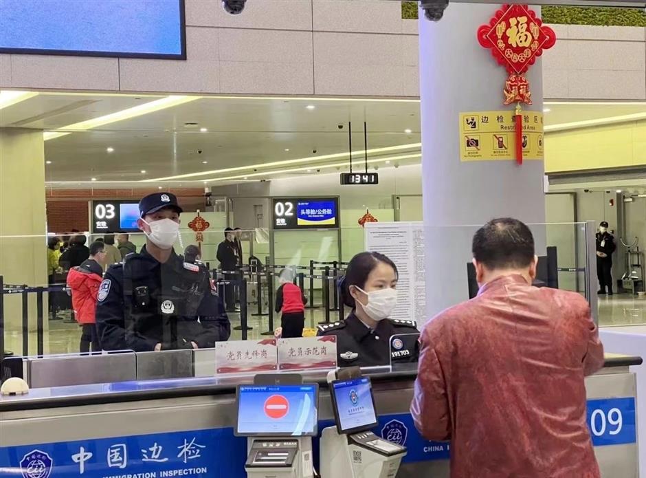
[[[183,0],[0,0],[0,52],[186,58]]]

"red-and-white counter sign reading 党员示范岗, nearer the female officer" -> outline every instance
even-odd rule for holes
[[[337,367],[335,336],[281,338],[278,340],[278,369],[312,370]]]

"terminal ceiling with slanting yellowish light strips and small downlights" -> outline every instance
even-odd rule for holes
[[[646,119],[645,102],[544,106],[546,133]],[[0,93],[0,127],[45,131],[49,187],[216,186],[421,161],[419,100]],[[547,141],[548,142],[548,141]],[[145,171],[145,172],[144,172]]]

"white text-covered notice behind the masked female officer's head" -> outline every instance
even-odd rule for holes
[[[427,320],[424,223],[368,222],[365,234],[366,250],[388,256],[399,271],[399,298],[390,318],[416,321],[421,328]]]

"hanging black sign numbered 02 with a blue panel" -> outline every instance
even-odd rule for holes
[[[325,229],[339,227],[336,197],[274,199],[274,229]]]

